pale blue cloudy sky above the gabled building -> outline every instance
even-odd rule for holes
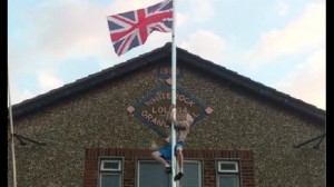
[[[19,104],[171,41],[153,32],[118,57],[107,17],[163,0],[8,0],[10,102]],[[175,43],[326,110],[325,0],[175,0]]]

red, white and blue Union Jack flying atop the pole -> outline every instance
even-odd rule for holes
[[[120,56],[144,45],[153,31],[173,31],[173,0],[107,17],[115,52]]]

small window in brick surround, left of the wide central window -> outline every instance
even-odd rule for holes
[[[101,158],[99,187],[121,187],[122,159]]]

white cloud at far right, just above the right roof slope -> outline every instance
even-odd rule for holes
[[[320,49],[299,63],[275,88],[303,101],[326,109],[326,51]]]

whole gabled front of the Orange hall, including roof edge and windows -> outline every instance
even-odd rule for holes
[[[168,187],[170,43],[13,106],[18,187]],[[324,187],[326,112],[177,48],[180,187]],[[10,144],[9,144],[10,145]],[[8,147],[8,186],[12,186]]]

